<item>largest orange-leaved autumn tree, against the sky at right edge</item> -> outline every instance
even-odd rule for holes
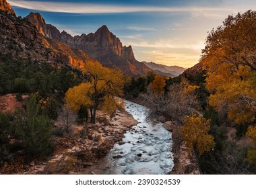
[[[207,36],[201,62],[207,70],[209,104],[236,124],[256,114],[256,12],[229,15]]]

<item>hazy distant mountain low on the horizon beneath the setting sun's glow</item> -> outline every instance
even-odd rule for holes
[[[154,62],[143,62],[149,68],[157,71],[159,75],[164,75],[163,73],[172,75],[172,77],[178,77],[181,75],[186,69],[180,66],[167,66],[164,64],[156,64]],[[164,75],[165,76],[165,75]]]

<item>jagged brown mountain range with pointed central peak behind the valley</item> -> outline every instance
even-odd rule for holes
[[[99,60],[103,66],[117,68],[125,75],[146,75],[151,68],[135,59],[131,46],[123,46],[119,38],[102,26],[95,33],[71,36],[67,32],[59,32],[55,26],[45,23],[39,13],[30,13],[27,17],[40,33],[69,46],[84,51]]]

